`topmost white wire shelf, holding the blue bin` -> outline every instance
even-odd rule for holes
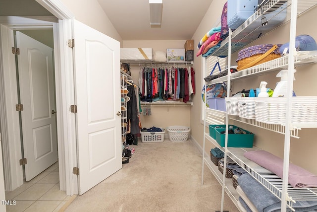
[[[262,26],[262,12],[260,9],[251,15],[232,32],[231,53],[242,49],[271,30],[288,22],[291,17],[291,4],[292,0],[270,0],[265,4],[263,12],[267,19],[267,25],[264,26]],[[316,0],[298,0],[297,15],[301,15],[308,9],[316,6],[316,4]],[[228,43],[229,38],[227,37],[212,55],[228,56]]]

